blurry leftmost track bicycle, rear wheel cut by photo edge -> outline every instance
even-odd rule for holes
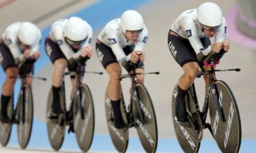
[[[31,76],[29,73],[33,69],[33,63],[35,60],[28,58],[18,66],[18,78],[20,78],[20,90],[18,92],[18,101],[14,108],[14,93],[8,103],[8,118],[10,122],[0,121],[0,139],[1,145],[7,146],[10,135],[12,133],[12,124],[17,124],[18,143],[20,148],[25,149],[29,143],[33,126],[33,94],[29,84],[25,82],[28,77],[33,77],[38,80],[46,80],[46,78],[40,78]]]

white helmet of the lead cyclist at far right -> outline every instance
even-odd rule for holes
[[[203,29],[217,30],[223,22],[223,14],[216,3],[205,2],[197,8],[197,20]]]

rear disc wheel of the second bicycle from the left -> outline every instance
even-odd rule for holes
[[[59,94],[61,109],[64,110],[64,101],[61,93]],[[66,129],[66,122],[65,122],[65,114],[60,114],[57,119],[51,119],[51,105],[53,103],[53,92],[52,90],[49,91],[47,105],[46,105],[46,125],[47,125],[47,133],[48,139],[51,143],[53,150],[57,151],[61,148],[63,143],[63,139],[65,137],[65,129]]]

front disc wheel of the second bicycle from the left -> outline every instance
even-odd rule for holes
[[[86,84],[81,85],[81,106],[79,107],[79,95],[76,95],[73,105],[74,133],[79,148],[87,152],[94,138],[94,101]]]

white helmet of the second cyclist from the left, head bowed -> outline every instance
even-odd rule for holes
[[[85,20],[73,16],[68,19],[64,27],[64,37],[69,41],[80,42],[87,38],[87,25]]]

